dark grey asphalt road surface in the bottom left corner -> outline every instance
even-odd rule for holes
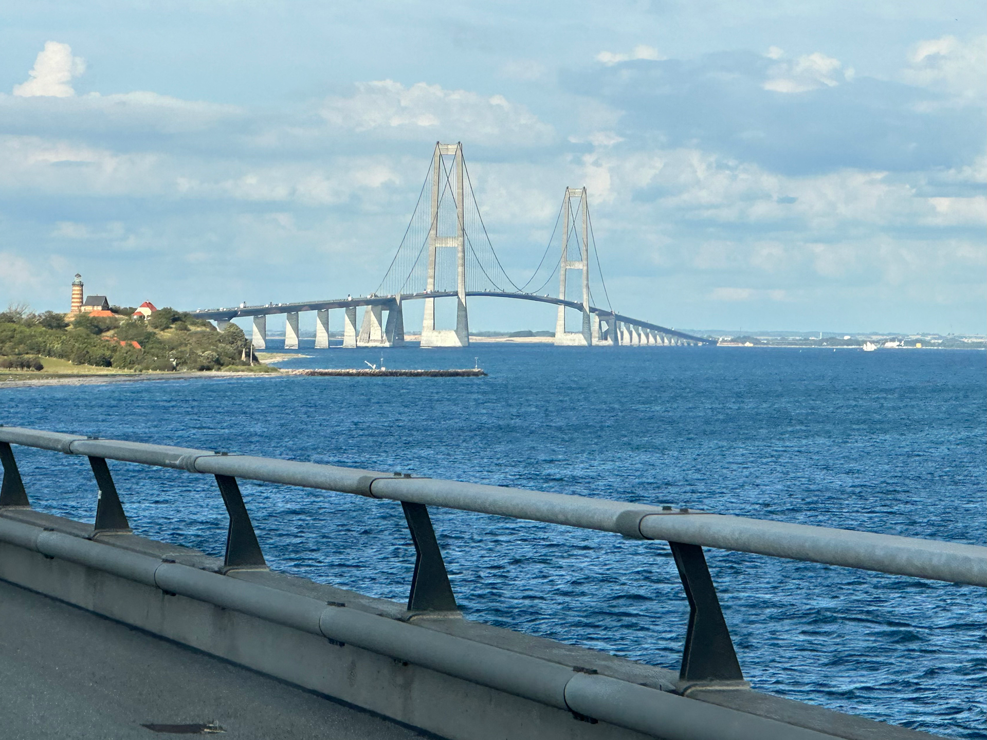
[[[0,581],[0,735],[21,740],[175,737],[144,724],[205,724],[216,737],[409,740],[374,714]]]

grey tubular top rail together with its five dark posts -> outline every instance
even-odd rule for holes
[[[987,548],[980,546],[9,426],[0,426],[0,508],[30,507],[12,444],[89,458],[99,488],[96,534],[129,531],[108,460],[214,476],[229,515],[226,569],[266,567],[238,479],[399,501],[417,553],[410,611],[457,608],[429,506],[665,541],[690,605],[680,668],[684,682],[743,681],[704,547],[987,586]]]

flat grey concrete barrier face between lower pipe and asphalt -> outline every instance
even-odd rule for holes
[[[8,543],[0,578],[442,737],[647,737]]]

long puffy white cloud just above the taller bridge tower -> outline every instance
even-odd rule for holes
[[[328,98],[321,112],[332,126],[414,138],[535,145],[554,134],[552,126],[503,96],[485,97],[423,82],[409,88],[393,80],[356,83],[355,95]]]

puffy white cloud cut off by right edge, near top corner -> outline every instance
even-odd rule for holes
[[[945,36],[919,41],[909,54],[905,82],[962,101],[983,102],[987,93],[987,36],[962,41]]]

